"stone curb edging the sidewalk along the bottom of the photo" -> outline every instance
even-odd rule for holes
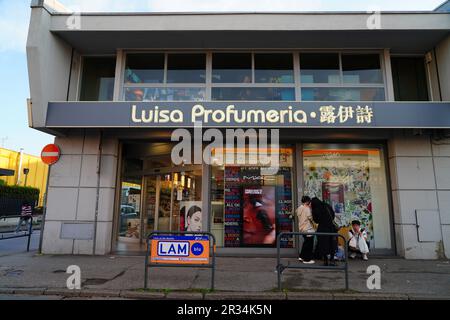
[[[64,298],[124,298],[135,300],[450,300],[449,296],[396,293],[332,293],[332,292],[143,292],[132,290],[63,288],[0,288],[3,295],[61,296]]]

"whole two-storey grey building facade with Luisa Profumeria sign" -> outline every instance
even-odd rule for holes
[[[343,227],[360,220],[375,254],[450,257],[449,30],[442,10],[73,14],[33,1],[29,121],[62,152],[43,252],[141,252],[152,231],[201,230],[219,254],[274,254],[309,195]],[[277,170],[258,158],[267,141]],[[286,253],[295,240],[281,237]]]

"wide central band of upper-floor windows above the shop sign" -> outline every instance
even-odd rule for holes
[[[378,53],[129,53],[126,101],[383,101]]]

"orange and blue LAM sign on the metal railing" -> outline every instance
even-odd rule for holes
[[[207,236],[155,236],[150,253],[156,264],[209,264],[210,241]]]

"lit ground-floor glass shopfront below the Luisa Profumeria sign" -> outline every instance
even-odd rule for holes
[[[384,144],[282,144],[277,172],[249,164],[257,153],[249,148],[214,150],[233,152],[235,161],[219,163],[212,154],[212,165],[170,165],[172,147],[123,144],[118,251],[141,250],[152,231],[209,231],[224,253],[274,248],[280,232],[297,230],[304,194],[331,204],[343,227],[360,220],[373,250],[393,252]],[[283,248],[295,247],[294,239],[282,240]]]

